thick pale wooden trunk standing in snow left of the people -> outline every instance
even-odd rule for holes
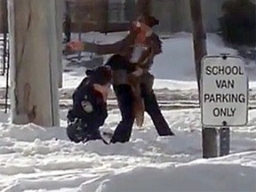
[[[8,0],[13,124],[60,124],[52,0]]]

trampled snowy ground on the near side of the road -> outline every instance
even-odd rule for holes
[[[67,111],[61,112],[65,124]],[[156,136],[147,116],[126,144],[74,144],[64,127],[0,125],[0,191],[255,191],[256,110],[249,125],[232,129],[229,156],[202,159],[198,109],[164,111],[176,133]],[[105,128],[114,129],[117,110]]]

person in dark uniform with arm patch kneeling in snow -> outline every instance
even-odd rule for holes
[[[90,69],[86,75],[72,95],[73,108],[68,110],[67,116],[68,138],[76,143],[102,140],[100,126],[108,117],[107,97],[112,79],[110,68],[101,66]]]

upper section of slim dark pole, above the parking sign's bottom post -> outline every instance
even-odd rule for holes
[[[194,55],[196,64],[196,79],[200,92],[201,60],[207,54],[206,34],[204,30],[201,1],[190,0],[190,12],[193,24]]]

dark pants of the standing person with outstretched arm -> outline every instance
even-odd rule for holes
[[[127,84],[114,85],[114,91],[116,92],[119,108],[121,110],[122,120],[116,127],[112,142],[127,142],[130,140],[132,124],[134,122],[132,112],[132,88]],[[173,135],[157,104],[156,95],[151,89],[149,90],[147,88],[146,84],[141,84],[141,95],[144,99],[145,110],[151,117],[157,133],[160,136]]]

